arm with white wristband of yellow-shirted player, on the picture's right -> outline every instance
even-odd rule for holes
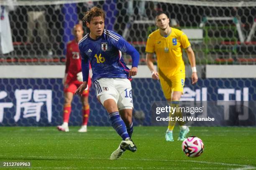
[[[189,59],[191,69],[192,69],[192,84],[195,84],[198,80],[197,77],[197,69],[196,69],[196,62],[195,62],[195,53],[192,50],[191,44],[187,38],[187,35],[184,34],[184,32],[181,32],[182,34],[180,35],[180,43],[182,47],[186,50],[187,52],[187,57]]]

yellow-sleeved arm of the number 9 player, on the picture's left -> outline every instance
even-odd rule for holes
[[[154,40],[151,35],[148,36],[147,45],[146,45],[146,62],[149,70],[152,73],[152,78],[154,80],[159,80],[159,74],[154,68],[153,55],[155,52]]]

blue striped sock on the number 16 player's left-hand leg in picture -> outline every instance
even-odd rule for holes
[[[120,117],[119,112],[110,113],[108,116],[112,124],[112,127],[115,129],[118,135],[120,135],[123,138],[123,140],[125,140],[126,138],[130,138],[126,130],[125,123]]]

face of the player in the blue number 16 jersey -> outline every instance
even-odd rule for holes
[[[90,32],[93,37],[100,37],[104,30],[104,20],[101,16],[94,17],[90,23],[86,23],[87,27],[90,28]]]

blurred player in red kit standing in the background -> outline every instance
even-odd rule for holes
[[[82,25],[77,24],[74,26],[73,34],[75,39],[67,44],[67,58],[64,83],[64,109],[63,109],[63,124],[58,126],[58,130],[68,132],[68,122],[71,112],[71,103],[74,97],[74,92],[79,85],[82,84],[82,68],[81,68],[81,56],[79,53],[78,42],[82,39],[84,31]],[[87,88],[82,92],[82,127],[78,132],[87,132],[87,122],[90,115],[90,105],[88,102],[89,89],[91,85],[90,77],[88,78]]]

